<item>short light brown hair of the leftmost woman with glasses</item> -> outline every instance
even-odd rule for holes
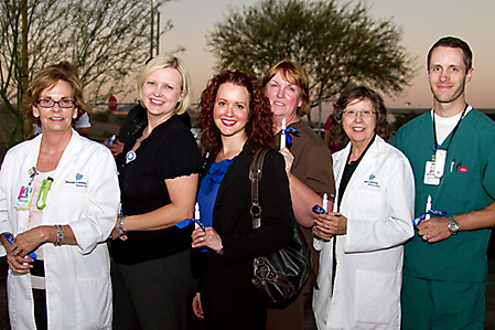
[[[72,87],[77,107],[76,119],[89,109],[83,100],[83,84],[79,81],[77,67],[63,61],[40,71],[29,84],[29,87],[22,97],[21,111],[28,116],[32,123],[40,125],[40,118],[33,116],[32,109],[41,92],[54,87],[58,81],[67,82]]]

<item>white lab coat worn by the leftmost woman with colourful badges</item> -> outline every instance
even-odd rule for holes
[[[28,228],[29,211],[15,202],[36,164],[41,136],[11,148],[0,171],[0,233]],[[43,225],[68,224],[78,245],[44,244],[49,329],[111,328],[110,262],[106,239],[119,207],[117,170],[110,151],[75,130],[43,210]],[[35,201],[34,201],[35,202]],[[0,244],[0,255],[6,255]],[[8,277],[12,329],[35,329],[30,275]]]

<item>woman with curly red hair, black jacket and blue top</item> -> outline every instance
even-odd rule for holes
[[[211,156],[197,198],[206,230],[192,234],[201,277],[194,312],[207,329],[265,329],[252,260],[287,245],[295,222],[283,157],[270,150],[259,184],[262,224],[252,228],[249,166],[256,150],[273,141],[270,104],[254,75],[224,71],[202,93],[200,109]]]

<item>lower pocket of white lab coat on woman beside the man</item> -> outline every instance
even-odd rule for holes
[[[395,323],[400,309],[399,280],[397,273],[357,270],[354,316],[356,323]]]

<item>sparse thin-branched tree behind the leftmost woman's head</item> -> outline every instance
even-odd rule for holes
[[[168,1],[155,1],[155,7]],[[149,57],[151,1],[4,0],[0,2],[0,109],[17,118],[13,135],[23,120],[13,106],[22,94],[23,3],[28,9],[29,78],[46,65],[68,61],[79,70],[89,103],[134,89],[129,77]],[[170,21],[162,25],[160,33],[172,28]]]

